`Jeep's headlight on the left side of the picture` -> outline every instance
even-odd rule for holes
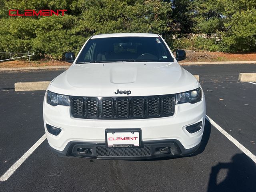
[[[46,102],[52,106],[56,106],[56,105],[70,106],[69,96],[56,94],[50,91],[46,92]]]

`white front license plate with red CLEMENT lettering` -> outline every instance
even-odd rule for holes
[[[139,131],[106,131],[106,145],[108,147],[139,147],[140,132]]]

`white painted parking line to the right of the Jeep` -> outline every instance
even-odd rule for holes
[[[235,144],[244,154],[246,154],[248,157],[250,157],[254,163],[256,163],[256,156],[252,154],[248,149],[246,149],[240,142],[238,142],[234,137],[232,137],[230,134],[228,134],[224,129],[222,129],[216,122],[214,122],[210,117],[206,115],[206,119],[216,128],[218,129],[226,138],[228,138],[232,143]]]

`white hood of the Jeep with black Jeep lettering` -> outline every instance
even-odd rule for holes
[[[177,62],[115,62],[73,64],[52,81],[49,90],[72,96],[149,96],[199,86]]]

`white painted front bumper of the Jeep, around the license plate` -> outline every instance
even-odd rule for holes
[[[170,117],[134,120],[94,120],[78,119],[71,116],[68,106],[51,106],[44,100],[44,127],[50,146],[59,154],[70,155],[69,148],[74,143],[93,145],[105,144],[106,129],[140,128],[142,144],[155,144],[156,142],[174,142],[180,148],[180,154],[193,152],[198,148],[202,140],[205,122],[204,95],[200,102],[195,104],[176,104],[175,114]],[[202,128],[190,134],[186,126],[202,121]],[[46,124],[61,129],[59,135],[54,136],[47,131]],[[151,147],[154,150],[154,146]],[[95,151],[95,150],[94,150]],[[74,155],[78,156],[78,155]],[[158,154],[152,151],[150,157],[170,156],[170,154]],[[150,158],[146,156],[146,158]],[[101,158],[93,154],[90,158]],[[144,157],[145,158],[145,157]]]

